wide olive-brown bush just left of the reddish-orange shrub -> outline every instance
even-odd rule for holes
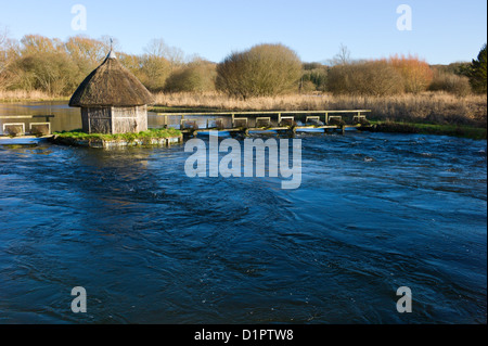
[[[403,92],[403,84],[400,74],[382,60],[332,67],[328,90],[334,94],[383,97]]]

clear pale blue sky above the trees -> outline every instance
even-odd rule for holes
[[[87,9],[87,30],[72,29],[74,4]],[[412,30],[397,29],[397,7],[412,9]],[[471,61],[487,41],[486,0],[0,0],[10,36],[78,34],[118,39],[140,54],[163,38],[185,54],[214,62],[257,43],[283,43],[303,61],[324,61],[341,43],[352,59],[418,54],[431,64]]]

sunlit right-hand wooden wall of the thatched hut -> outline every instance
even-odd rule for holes
[[[147,130],[147,106],[112,107],[113,133]]]

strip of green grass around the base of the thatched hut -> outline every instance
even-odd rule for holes
[[[54,136],[59,138],[75,139],[80,141],[87,140],[103,140],[103,141],[127,141],[132,142],[134,140],[149,140],[149,139],[162,139],[170,137],[181,136],[181,131],[174,128],[166,129],[149,129],[139,133],[116,133],[116,134],[102,134],[102,133],[86,133],[81,130],[54,132]]]

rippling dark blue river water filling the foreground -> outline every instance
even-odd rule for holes
[[[297,138],[296,190],[189,178],[183,145],[0,145],[0,323],[487,322],[486,141]]]

